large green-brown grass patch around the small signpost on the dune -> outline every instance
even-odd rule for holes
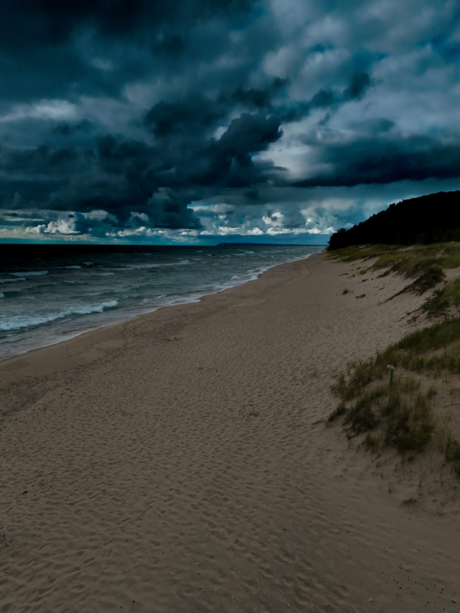
[[[388,365],[399,375],[389,385]],[[460,375],[460,318],[440,321],[408,333],[368,360],[348,365],[331,386],[340,399],[329,414],[332,422],[345,415],[348,436],[366,434],[372,452],[394,447],[401,455],[423,451],[437,428],[431,379]],[[440,449],[460,476],[460,441],[446,431]]]

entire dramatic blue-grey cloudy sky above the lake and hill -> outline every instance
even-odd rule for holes
[[[459,18],[456,0],[2,0],[0,242],[325,244],[459,189]]]

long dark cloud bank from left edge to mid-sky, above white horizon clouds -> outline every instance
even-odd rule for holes
[[[118,219],[129,218],[134,208],[150,213],[158,226],[196,228],[201,224],[186,208],[188,188],[242,187],[266,180],[272,167],[254,164],[251,153],[266,150],[281,135],[277,118],[243,113],[220,139],[192,140],[185,150],[114,135],[99,139],[94,150],[45,145],[4,149],[0,194],[9,201],[18,192],[56,210],[104,208]],[[161,188],[185,194],[159,199],[155,194]]]

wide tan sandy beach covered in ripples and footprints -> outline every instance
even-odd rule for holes
[[[323,421],[423,299],[351,270],[316,254],[0,362],[0,612],[459,611],[458,504],[401,504],[410,478]]]

